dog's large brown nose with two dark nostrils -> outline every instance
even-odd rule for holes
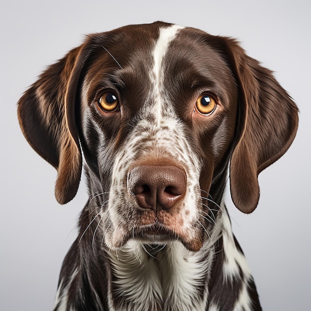
[[[128,174],[128,189],[140,207],[167,210],[186,191],[186,173],[173,165],[139,165]]]

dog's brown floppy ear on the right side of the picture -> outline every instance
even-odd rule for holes
[[[234,205],[251,213],[259,200],[258,174],[292,144],[298,108],[272,73],[229,40],[230,62],[238,84],[237,140],[230,163]]]

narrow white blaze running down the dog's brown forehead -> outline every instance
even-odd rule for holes
[[[154,92],[156,99],[156,119],[159,122],[159,117],[161,116],[162,102],[160,97],[161,91],[161,82],[163,80],[163,67],[162,61],[165,57],[169,43],[176,37],[177,32],[184,28],[179,25],[172,25],[167,28],[159,29],[159,37],[156,41],[156,46],[154,49],[154,70],[152,80],[154,82]]]

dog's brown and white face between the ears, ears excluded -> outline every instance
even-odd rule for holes
[[[100,47],[87,67],[79,137],[102,192],[109,193],[101,215],[109,247],[120,247],[133,236],[149,242],[177,236],[188,248],[202,246],[200,223],[209,211],[202,205],[201,191],[206,197],[226,166],[237,88],[219,53],[202,38],[192,38],[192,32],[178,36],[180,30],[172,26],[152,36],[149,30],[143,46],[136,33],[112,38],[105,49],[118,61]],[[194,48],[183,48],[185,42]],[[170,167],[175,170],[168,171]],[[164,188],[178,178],[185,182],[169,208],[160,206],[159,195],[148,205],[152,194],[141,199],[145,207],[139,195],[153,189],[134,190],[155,170],[173,179]]]

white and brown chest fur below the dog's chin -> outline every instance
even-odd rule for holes
[[[146,247],[130,241],[122,250],[109,253],[115,276],[111,307],[116,311],[205,310],[210,260],[202,261],[202,253],[191,253],[177,241],[156,249]]]

